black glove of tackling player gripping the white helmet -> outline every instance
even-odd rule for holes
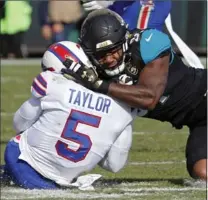
[[[83,63],[77,63],[70,59],[66,59],[63,64],[66,68],[61,71],[66,78],[76,80],[86,88],[96,92],[108,93],[110,82],[99,79],[93,66],[87,67]]]

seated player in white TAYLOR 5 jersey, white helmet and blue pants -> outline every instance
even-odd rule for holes
[[[5,172],[23,188],[70,186],[97,164],[112,172],[126,164],[136,113],[66,78],[61,69],[68,59],[75,61],[70,68],[79,70],[79,62],[93,70],[78,44],[55,43],[43,56],[31,98],[15,113],[17,136],[6,147]]]

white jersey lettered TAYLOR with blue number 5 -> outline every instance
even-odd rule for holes
[[[31,91],[42,113],[21,134],[19,158],[61,185],[82,173],[80,167],[95,167],[135,116],[127,105],[50,71],[34,79]]]

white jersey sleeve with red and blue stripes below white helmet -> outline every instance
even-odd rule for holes
[[[52,72],[41,72],[33,79],[31,86],[31,94],[36,98],[41,98],[46,96],[47,87],[49,82],[49,74]]]

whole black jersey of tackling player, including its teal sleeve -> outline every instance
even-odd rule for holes
[[[138,116],[168,121],[176,128],[190,125],[193,119],[196,121],[193,117],[195,108],[204,102],[207,70],[187,67],[173,52],[169,37],[156,29],[138,31],[135,34],[138,37],[134,37],[133,42],[130,42],[131,59],[140,63],[141,69],[164,53],[171,55],[168,82],[163,96],[154,110],[139,109]]]

